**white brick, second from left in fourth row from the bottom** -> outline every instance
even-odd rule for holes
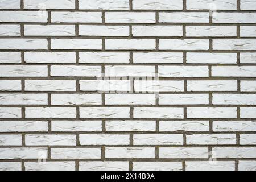
[[[101,131],[101,121],[52,121],[52,131]]]

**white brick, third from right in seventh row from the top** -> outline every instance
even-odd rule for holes
[[[182,92],[184,91],[184,81],[175,80],[135,80],[135,92]]]

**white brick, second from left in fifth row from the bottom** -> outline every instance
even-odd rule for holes
[[[26,107],[26,118],[76,118],[75,107]]]

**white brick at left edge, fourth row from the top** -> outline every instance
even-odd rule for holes
[[[0,39],[0,49],[6,50],[32,50],[47,49],[46,39]]]

